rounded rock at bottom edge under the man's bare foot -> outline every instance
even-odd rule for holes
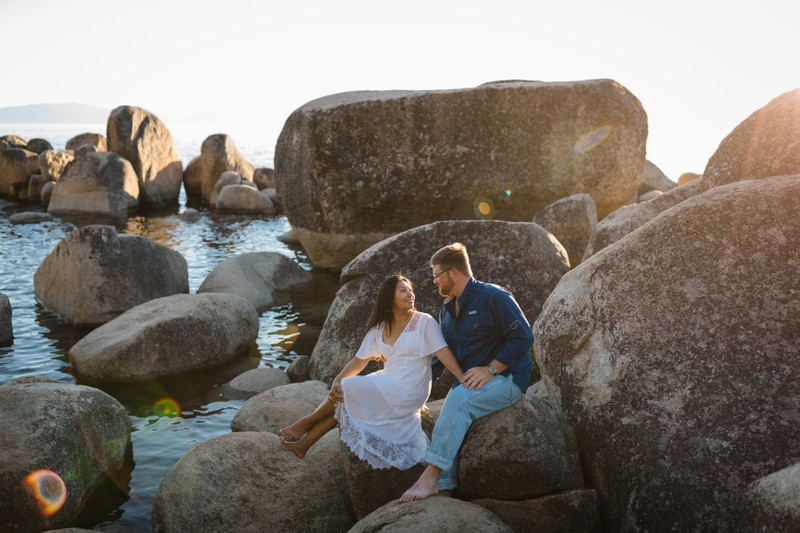
[[[512,533],[494,513],[474,503],[433,496],[415,502],[391,502],[359,520],[349,533]]]

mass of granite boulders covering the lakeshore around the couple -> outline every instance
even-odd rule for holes
[[[282,209],[315,266],[340,271],[313,352],[226,385],[247,400],[230,433],[162,480],[154,531],[793,531],[800,89],[681,185],[645,159],[646,136],[641,104],[612,80],[346,93],[289,117],[274,175],[221,134],[183,170],[166,126],[122,106],[105,137],[68,150],[0,138],[0,195],[51,216],[124,215],[183,186],[212,209]],[[542,378],[474,424],[456,498],[394,502],[421,467],[372,470],[336,432],[303,460],[281,451],[278,428],[321,401],[357,348],[377,283],[428,280],[428,258],[453,240],[517,297]],[[197,294],[185,271],[177,252],[89,225],[32,275],[50,312],[96,328],[69,350],[87,384],[230,365],[259,313],[309,281],[269,253],[223,261]],[[12,312],[0,294],[0,343],[13,342]],[[104,479],[130,476],[130,420],[96,388],[21,378],[0,387],[0,419],[4,530],[68,527]]]

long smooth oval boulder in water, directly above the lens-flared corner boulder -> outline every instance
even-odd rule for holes
[[[70,350],[90,381],[142,381],[232,361],[258,337],[253,306],[230,294],[176,294],[134,307]]]

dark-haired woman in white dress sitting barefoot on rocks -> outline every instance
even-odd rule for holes
[[[342,442],[373,468],[416,465],[428,449],[419,412],[431,391],[433,353],[461,379],[439,325],[414,307],[411,281],[389,276],[378,290],[361,348],[333,380],[325,401],[281,430],[281,448],[305,457],[338,419]],[[357,375],[370,360],[383,361],[383,370]]]

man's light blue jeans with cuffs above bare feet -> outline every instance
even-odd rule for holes
[[[522,397],[511,376],[495,376],[481,390],[458,385],[447,394],[439,420],[433,427],[425,461],[442,469],[437,486],[452,490],[458,486],[458,451],[474,421],[513,405]]]

